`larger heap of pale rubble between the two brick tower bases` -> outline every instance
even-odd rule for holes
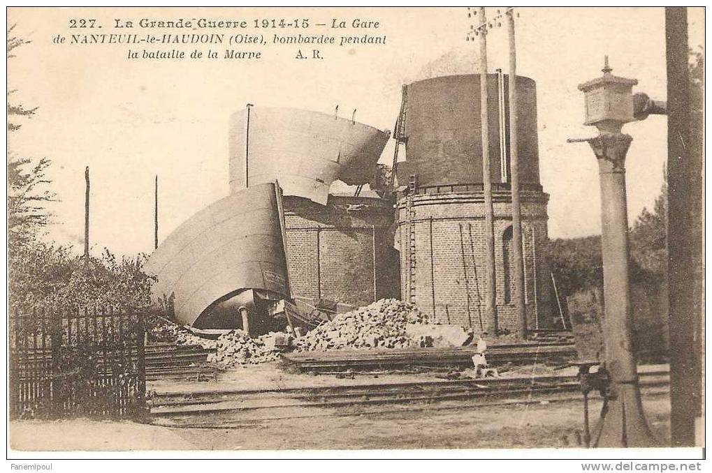
[[[338,314],[295,341],[296,351],[409,348],[428,346],[425,337],[410,336],[407,327],[429,324],[417,307],[397,299],[381,299]]]

